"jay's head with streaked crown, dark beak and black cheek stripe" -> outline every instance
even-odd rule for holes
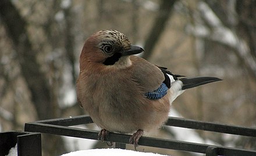
[[[127,67],[131,65],[130,55],[141,53],[144,50],[131,45],[126,35],[115,30],[102,30],[91,35],[84,43],[80,56],[86,63],[99,63],[104,66],[115,65]]]

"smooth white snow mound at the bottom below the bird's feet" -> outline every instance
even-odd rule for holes
[[[144,153],[139,151],[131,151],[131,150],[122,150],[116,148],[105,148],[105,149],[93,149],[93,150],[82,150],[82,151],[75,151],[72,153],[63,154],[61,156],[115,156],[115,155],[122,155],[122,156],[161,156],[161,154],[154,154],[154,153]]]

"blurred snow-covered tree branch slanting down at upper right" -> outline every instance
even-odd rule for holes
[[[225,24],[222,23],[222,17],[218,17],[218,14],[215,14],[207,3],[200,2],[198,8],[204,21],[211,28],[210,33],[201,34],[200,37],[211,39],[212,41],[232,49],[241,63],[246,66],[250,75],[256,78],[256,57],[251,53],[251,49],[253,50],[253,48],[250,48],[254,45],[250,45],[250,42],[238,36],[232,28],[226,27]],[[198,36],[196,30],[193,31],[193,33]]]

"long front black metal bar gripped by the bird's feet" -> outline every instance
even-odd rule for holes
[[[26,124],[25,130],[30,132],[50,133],[53,135],[81,137],[81,138],[94,139],[94,140],[98,139],[98,131],[96,130],[70,128],[65,126],[43,124],[38,122]],[[130,139],[130,135],[124,135],[120,133],[109,133],[108,139],[106,141],[128,144],[129,139]],[[215,146],[214,148],[216,149],[214,149],[213,151],[209,151],[209,147],[211,147],[211,145],[209,144],[199,144],[199,143],[182,142],[177,140],[157,139],[153,137],[141,137],[138,144],[140,144],[141,146],[168,148],[172,150],[190,151],[194,153],[207,153],[207,150],[208,150],[208,155],[213,151],[216,152],[216,149],[218,151],[218,155],[255,155],[256,154],[256,151],[222,147],[222,146]]]

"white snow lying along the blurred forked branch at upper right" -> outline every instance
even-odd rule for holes
[[[193,26],[187,26],[186,30],[196,37],[209,38],[223,45],[230,46],[236,50],[236,53],[243,58],[251,70],[256,71],[256,60],[251,56],[247,43],[242,38],[239,38],[232,29],[225,27],[207,3],[200,1],[200,3],[198,3],[198,10],[209,26],[205,26],[201,21],[193,24]],[[198,19],[200,19],[200,16],[197,17],[197,21]],[[211,30],[208,27],[210,27]]]

